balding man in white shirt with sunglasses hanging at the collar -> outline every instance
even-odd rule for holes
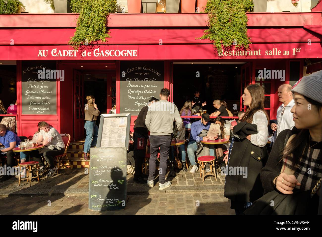
[[[276,137],[283,130],[291,129],[295,125],[293,121],[293,113],[291,113],[291,109],[295,104],[291,89],[292,86],[289,84],[280,85],[278,89],[279,102],[282,102],[282,104],[277,109],[277,124],[272,123],[270,125],[270,128],[273,131],[276,131]]]

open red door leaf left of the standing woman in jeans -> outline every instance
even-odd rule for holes
[[[74,70],[74,139],[79,140],[85,137],[84,118],[84,80],[83,75]]]

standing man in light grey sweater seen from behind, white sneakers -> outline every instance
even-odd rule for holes
[[[147,112],[145,124],[150,131],[150,161],[149,178],[147,184],[154,186],[154,174],[156,172],[156,158],[160,147],[160,168],[159,168],[159,190],[164,190],[171,186],[165,182],[167,159],[170,151],[170,143],[173,133],[173,122],[176,121],[178,130],[182,129],[182,119],[175,104],[168,101],[170,91],[166,88],[161,89],[160,98],[153,103]]]

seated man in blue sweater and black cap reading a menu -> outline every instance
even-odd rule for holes
[[[211,138],[209,136],[199,137],[199,134],[204,129],[209,130],[209,127],[210,127],[209,114],[203,114],[201,117],[201,120],[191,123],[191,133],[189,136],[189,143],[187,148],[188,157],[192,165],[190,173],[195,173],[198,170],[198,166],[194,157],[194,153],[197,150],[197,142],[208,141]],[[211,153],[210,155],[214,156],[213,149],[210,149],[210,153]]]

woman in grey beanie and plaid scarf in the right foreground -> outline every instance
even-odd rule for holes
[[[264,196],[245,214],[317,214],[322,177],[322,71],[304,76],[291,91],[295,127],[277,137],[260,173]]]

